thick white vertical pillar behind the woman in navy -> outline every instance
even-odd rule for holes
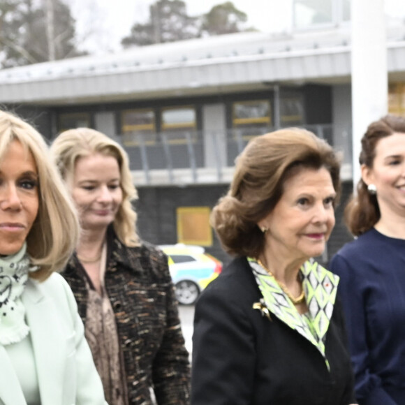
[[[353,184],[360,179],[360,139],[388,111],[384,0],[351,0]]]

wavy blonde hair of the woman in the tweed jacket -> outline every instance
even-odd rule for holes
[[[122,202],[113,226],[119,240],[126,246],[138,246],[136,232],[137,214],[132,202],[138,198],[124,149],[107,135],[91,128],[75,128],[60,133],[52,142],[51,152],[61,176],[66,182],[75,172],[78,159],[92,154],[112,156],[117,159],[121,175]]]

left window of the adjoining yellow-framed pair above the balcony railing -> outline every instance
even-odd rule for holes
[[[121,114],[121,133],[125,146],[136,146],[140,142],[152,145],[156,142],[154,110],[126,110]]]

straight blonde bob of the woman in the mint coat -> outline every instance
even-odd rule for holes
[[[42,135],[20,117],[0,110],[0,159],[15,140],[32,154],[38,170],[38,214],[27,235],[27,251],[38,266],[30,277],[44,281],[71,257],[80,233],[78,216]]]

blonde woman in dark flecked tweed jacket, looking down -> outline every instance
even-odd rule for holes
[[[110,405],[189,404],[189,355],[162,251],[140,242],[128,158],[89,128],[61,133],[52,153],[78,209],[70,284]]]

